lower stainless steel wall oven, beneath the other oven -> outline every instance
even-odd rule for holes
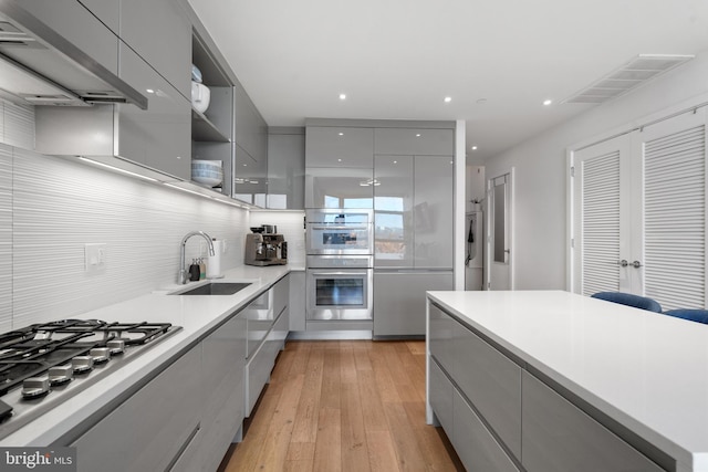
[[[373,319],[372,255],[308,255],[306,318]]]

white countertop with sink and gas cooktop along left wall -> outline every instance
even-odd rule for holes
[[[136,356],[106,378],[62,402],[60,408],[48,411],[3,438],[0,440],[0,445],[41,447],[56,441],[102,407],[119,398],[142,378],[160,369],[165,363],[174,360],[175,356],[219,326],[235,311],[246,306],[247,302],[289,272],[288,265],[240,266],[227,271],[223,279],[215,280],[215,282],[251,282],[251,285],[233,295],[168,295],[171,291],[197,286],[209,281],[192,282],[189,285],[174,284],[164,287],[163,291],[76,316],[118,323],[171,323],[181,326],[181,329],[160,339],[147,352]]]

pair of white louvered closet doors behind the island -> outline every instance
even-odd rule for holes
[[[573,155],[573,291],[706,306],[706,111]]]

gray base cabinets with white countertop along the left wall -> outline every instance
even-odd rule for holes
[[[38,418],[10,418],[8,423],[23,426],[2,437],[0,445],[76,447],[80,471],[98,470],[93,460],[101,470],[127,470],[133,463],[139,470],[215,470],[229,442],[239,438],[241,419],[282,348],[289,272],[287,265],[240,266],[223,279],[165,286],[83,314],[178,328],[129,361],[108,363],[119,367]],[[208,282],[249,285],[231,295],[174,294]],[[32,401],[51,402],[55,395]]]

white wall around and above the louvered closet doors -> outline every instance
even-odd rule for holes
[[[708,51],[638,90],[600,105],[488,159],[487,177],[516,167],[514,273],[518,290],[565,289],[566,149],[635,127],[649,115],[708,99]],[[559,104],[556,106],[573,106]]]

